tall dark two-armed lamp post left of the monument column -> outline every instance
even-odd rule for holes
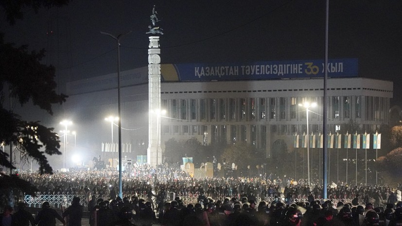
[[[126,34],[120,34],[114,36],[110,33],[101,32],[102,35],[108,35],[111,38],[117,41],[117,105],[118,105],[118,112],[119,112],[119,119],[121,119],[121,110],[120,110],[120,38],[123,35],[127,35],[131,33],[127,32]],[[119,120],[119,196],[123,198],[123,188],[122,188],[122,120]]]

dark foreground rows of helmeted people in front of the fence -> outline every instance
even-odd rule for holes
[[[331,200],[298,202],[291,205],[275,200],[256,203],[250,197],[226,197],[212,200],[204,195],[195,204],[183,205],[183,200],[164,201],[164,191],[156,195],[156,209],[150,201],[132,196],[104,200],[92,196],[88,205],[91,226],[402,226],[402,202],[387,204],[386,208],[373,204],[354,206],[352,203]],[[49,202],[35,219],[18,205],[18,211],[6,207],[0,216],[0,226],[55,226],[56,219],[67,226],[81,226],[84,207],[74,197],[71,206],[60,216]],[[66,220],[65,220],[66,219]]]

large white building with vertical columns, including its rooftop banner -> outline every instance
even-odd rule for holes
[[[310,109],[309,131],[323,133],[322,68],[320,61],[162,65],[161,106],[167,111],[161,119],[162,151],[171,138],[205,144],[242,140],[271,157],[274,145],[292,149],[293,135],[306,131],[306,111],[298,106],[306,101],[317,103]],[[146,155],[148,145],[147,70],[121,73],[122,142],[132,143],[133,157]],[[367,131],[388,123],[392,82],[357,77],[356,59],[332,60],[329,70],[332,133],[350,120]],[[110,142],[110,127],[101,120],[117,112],[116,74],[71,82],[67,94],[63,106],[85,125],[83,136],[95,146]]]

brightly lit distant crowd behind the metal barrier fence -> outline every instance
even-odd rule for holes
[[[160,167],[156,170],[149,165],[132,167],[131,174],[123,174],[122,192],[127,195],[144,195],[157,193],[162,188],[174,192],[178,196],[197,195],[204,192],[212,199],[227,196],[239,197],[242,192],[253,193],[259,199],[275,196],[286,199],[288,204],[293,200],[320,199],[322,187],[319,183],[308,186],[303,179],[294,180],[291,177],[213,177],[197,179],[189,176],[179,167]],[[20,177],[29,181],[42,193],[68,192],[73,194],[96,194],[104,197],[115,197],[119,191],[118,172],[111,169],[55,172],[40,175],[37,173],[20,172]],[[388,199],[396,199],[395,190],[402,190],[402,184],[390,186],[350,186],[338,182],[328,187],[328,197],[331,199],[353,199],[356,196],[366,202],[374,199],[376,206]]]

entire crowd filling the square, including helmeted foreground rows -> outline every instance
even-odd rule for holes
[[[24,219],[40,225],[44,224],[40,218],[45,216],[52,219],[49,224],[53,226],[55,219],[66,223],[63,217],[69,215],[70,225],[74,225],[71,218],[81,219],[85,208],[90,213],[91,226],[402,225],[402,203],[395,194],[402,190],[401,184],[391,188],[338,182],[328,187],[329,199],[322,200],[318,183],[310,187],[304,180],[290,177],[196,179],[178,167],[156,170],[149,165],[133,166],[130,171],[123,176],[123,198],[118,196],[118,172],[111,169],[56,171],[52,175],[19,172],[40,192],[67,192],[88,200],[91,197],[85,207],[80,205],[83,200],[74,197],[61,216],[49,210],[49,202],[44,202],[40,211],[43,213],[37,214],[35,220]],[[18,209],[23,210],[23,206],[20,204]],[[11,212],[11,207],[4,208],[0,226],[21,218],[21,213]]]

